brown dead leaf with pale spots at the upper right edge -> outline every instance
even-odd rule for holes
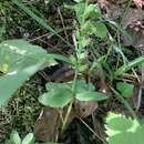
[[[143,13],[142,13],[143,12]],[[132,38],[122,35],[122,41],[124,45],[133,45],[134,48],[144,48],[144,25],[141,20],[143,19],[144,11],[133,9],[130,11],[124,20],[124,28]]]

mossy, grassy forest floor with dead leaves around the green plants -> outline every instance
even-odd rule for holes
[[[73,44],[73,31],[75,13],[65,6],[74,4],[72,0],[22,0],[22,2],[39,17],[44,19],[65,40]],[[111,81],[112,72],[123,63],[123,59],[133,61],[143,54],[144,25],[143,10],[140,10],[131,0],[90,0],[91,3],[101,8],[107,28],[107,38],[101,40],[94,38],[90,45],[90,62],[92,55],[103,59],[105,53],[107,59],[102,63],[102,71],[94,71],[90,78],[97,91],[106,93],[109,99],[99,103],[84,103],[76,105],[75,111],[69,117],[68,126],[58,141],[65,144],[101,144],[105,141],[105,116],[107,113],[116,112],[131,115],[130,110],[123,101],[116,97],[111,86],[116,88],[116,82],[127,82],[134,85],[133,93],[126,102],[131,105],[135,114],[141,119],[144,115],[144,96],[140,97],[142,85],[142,65],[135,66],[114,81]],[[125,16],[124,16],[124,14]],[[0,2],[0,41],[9,39],[24,39],[33,44],[42,47],[50,53],[71,55],[73,48],[65,44],[54,33],[45,30],[28,13],[9,0]],[[109,21],[110,20],[110,21]],[[135,24],[135,21],[141,24]],[[117,25],[115,27],[115,22]],[[133,42],[131,43],[124,35],[119,24],[123,22],[123,28],[131,32]],[[88,79],[88,73],[82,76]],[[20,88],[8,105],[0,109],[0,143],[9,137],[14,128],[22,136],[29,132],[34,132],[37,141],[55,141],[59,135],[55,131],[59,123],[55,117],[55,110],[44,107],[38,102],[38,97],[45,91],[47,82],[68,82],[73,79],[72,70],[68,64],[59,64],[45,68],[35,73],[29,81]],[[142,94],[143,91],[142,91]],[[79,113],[79,114],[78,114]],[[41,114],[41,116],[40,116]],[[53,123],[55,122],[55,123]]]

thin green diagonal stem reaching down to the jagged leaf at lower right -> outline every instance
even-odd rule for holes
[[[123,102],[123,104],[125,105],[125,107],[130,111],[131,115],[138,121],[135,112],[133,111],[132,106],[127,103],[127,101],[124,100],[124,97],[117,91],[115,91],[113,88],[111,88],[111,90],[116,95],[117,100],[121,100]]]

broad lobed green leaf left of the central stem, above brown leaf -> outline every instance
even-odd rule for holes
[[[48,83],[48,93],[39,97],[39,102],[45,106],[63,107],[73,99],[73,94],[66,84]]]

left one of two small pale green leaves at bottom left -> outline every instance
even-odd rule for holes
[[[17,131],[11,132],[10,141],[12,144],[21,144],[21,138],[20,138],[20,135]]]

